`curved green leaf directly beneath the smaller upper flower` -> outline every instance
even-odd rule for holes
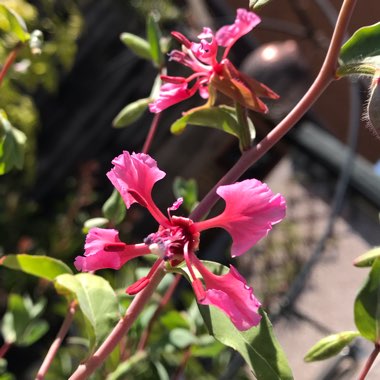
[[[239,137],[239,124],[234,108],[227,106],[195,108],[176,120],[170,130],[174,134],[184,131],[187,124],[220,129]]]

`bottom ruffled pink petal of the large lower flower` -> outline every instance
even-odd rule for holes
[[[232,265],[227,274],[217,276],[209,272],[198,259],[193,263],[206,285],[204,298],[198,300],[200,304],[216,306],[241,331],[260,323],[261,315],[258,311],[261,304],[253,294],[253,289]]]

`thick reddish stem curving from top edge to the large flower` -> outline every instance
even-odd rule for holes
[[[337,61],[340,48],[343,43],[344,34],[348,22],[357,0],[344,0],[338,20],[335,25],[334,33],[331,38],[330,46],[326,54],[322,68],[306,92],[304,97],[294,107],[294,109],[274,128],[268,135],[260,141],[255,147],[245,151],[236,164],[222,177],[222,179],[211,189],[211,191],[202,199],[199,205],[191,214],[191,219],[198,221],[203,215],[216,203],[218,197],[216,189],[219,186],[230,184],[239,179],[244,172],[256,161],[258,161],[269,149],[271,149],[282,137],[288,133],[301,117],[309,110],[320,95],[325,91],[328,85],[336,79]]]

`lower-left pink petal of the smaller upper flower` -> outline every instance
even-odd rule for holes
[[[158,113],[173,104],[182,102],[194,95],[196,88],[189,89],[185,78],[181,83],[165,83],[160,88],[158,98],[149,104],[149,110]]]

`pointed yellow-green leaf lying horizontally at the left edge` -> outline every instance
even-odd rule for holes
[[[48,281],[53,281],[61,274],[72,273],[64,262],[48,256],[7,255],[0,259],[0,265],[44,278]]]

